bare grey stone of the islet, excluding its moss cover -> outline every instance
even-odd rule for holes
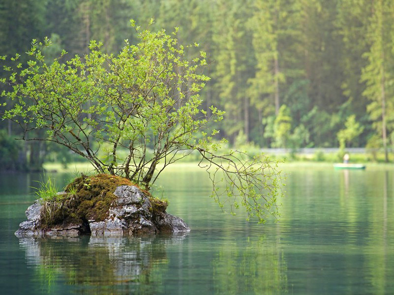
[[[63,192],[61,193],[63,194]],[[79,223],[63,220],[61,224],[44,227],[41,223],[41,200],[26,210],[27,221],[15,232],[24,236],[135,236],[141,234],[189,232],[190,228],[181,218],[165,210],[154,210],[149,198],[132,185],[121,185],[114,191],[115,201],[104,220],[82,219]],[[86,214],[89,216],[88,212]]]

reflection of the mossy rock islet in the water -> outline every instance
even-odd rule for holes
[[[154,294],[168,264],[166,247],[187,235],[21,238],[43,293]],[[154,274],[152,275],[152,271]],[[150,285],[150,283],[154,284]]]

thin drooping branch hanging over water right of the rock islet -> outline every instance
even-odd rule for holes
[[[277,198],[283,193],[276,162],[270,162],[264,154],[250,157],[241,151],[230,151],[215,155],[202,148],[196,149],[202,156],[199,167],[208,172],[212,181],[211,196],[219,207],[229,203],[235,214],[241,204],[248,216],[257,217],[259,223],[266,222],[269,216],[279,216]]]

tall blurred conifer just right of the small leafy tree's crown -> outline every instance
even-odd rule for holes
[[[249,140],[250,102],[247,81],[254,76],[251,33],[246,22],[253,12],[253,1],[216,1],[213,15],[212,43],[215,60],[212,73],[216,95],[226,111],[223,130],[234,143],[243,129]]]

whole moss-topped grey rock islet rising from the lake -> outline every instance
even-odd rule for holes
[[[167,202],[153,198],[130,180],[99,174],[68,184],[56,201],[37,200],[26,211],[16,236],[133,236],[188,232],[182,219],[166,212]]]

